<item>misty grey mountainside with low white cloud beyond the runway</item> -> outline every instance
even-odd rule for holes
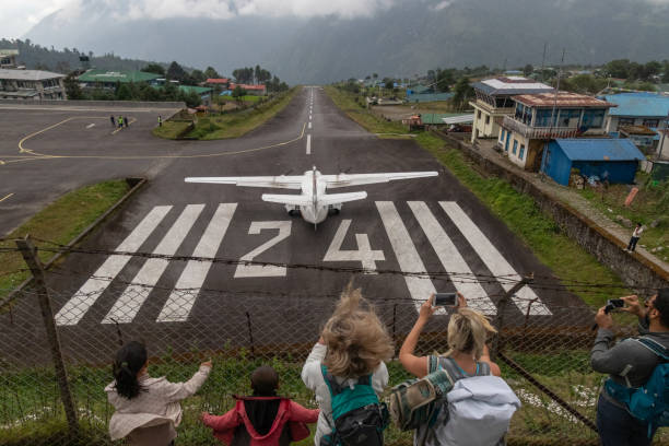
[[[343,7],[304,11],[297,7],[308,1],[274,10],[269,0],[174,3],[172,11],[157,0],[77,0],[25,37],[57,48],[211,64],[227,74],[259,63],[290,83],[373,72],[412,77],[436,67],[503,67],[505,60],[507,68],[539,66],[544,43],[553,66],[563,47],[566,63],[669,59],[664,0],[333,0]]]

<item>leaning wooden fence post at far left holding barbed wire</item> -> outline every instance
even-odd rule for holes
[[[37,249],[33,245],[30,236],[26,236],[23,239],[17,239],[16,246],[21,250],[21,255],[23,256],[23,259],[31,269],[33,278],[35,279],[34,286],[37,291],[37,301],[39,302],[42,319],[44,321],[47,340],[51,349],[51,359],[54,360],[54,368],[56,369],[56,379],[58,382],[58,387],[60,388],[60,399],[62,400],[62,406],[64,407],[70,434],[74,436],[79,432],[77,410],[74,409],[74,402],[68,382],[68,373],[64,367],[64,361],[62,360],[60,339],[58,337],[58,331],[56,330],[56,322],[54,321],[54,310],[51,308],[51,301],[49,298],[46,281],[44,279],[44,269],[42,268],[42,262],[37,257]]]

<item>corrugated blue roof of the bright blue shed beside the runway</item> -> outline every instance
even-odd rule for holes
[[[558,139],[558,145],[572,161],[645,160],[630,139],[575,138]]]

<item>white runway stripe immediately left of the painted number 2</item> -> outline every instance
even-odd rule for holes
[[[204,231],[204,235],[192,251],[193,257],[216,256],[236,209],[237,203],[219,204],[214,216]],[[163,306],[156,322],[183,322],[188,319],[211,266],[211,261],[199,260],[189,260],[186,263],[186,268],[174,286],[175,290],[169,294],[165,306]]]

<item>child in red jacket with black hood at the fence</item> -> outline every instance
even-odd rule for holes
[[[235,408],[221,416],[202,412],[202,422],[224,445],[284,446],[309,436],[306,423],[318,420],[318,409],[305,409],[277,396],[279,375],[270,366],[251,374],[253,397],[234,397]]]

